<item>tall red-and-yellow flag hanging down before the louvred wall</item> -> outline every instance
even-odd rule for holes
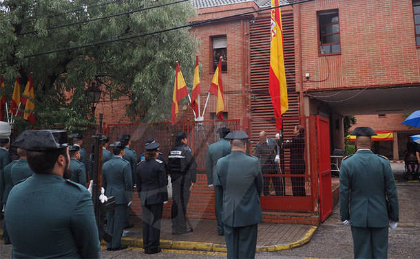
[[[279,0],[271,0],[271,7],[277,7]],[[282,114],[288,110],[286,72],[284,71],[282,14],[280,8],[271,9],[271,45],[269,91],[274,108],[275,130],[282,129]]]

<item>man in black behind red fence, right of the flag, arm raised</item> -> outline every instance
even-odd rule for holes
[[[286,140],[282,148],[290,148],[290,169],[291,174],[305,174],[305,139],[304,127],[297,125],[293,129],[295,135],[291,141]],[[306,196],[305,177],[292,177],[293,196]]]

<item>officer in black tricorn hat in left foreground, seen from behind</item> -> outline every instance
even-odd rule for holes
[[[99,258],[92,197],[65,180],[70,171],[67,132],[24,131],[14,142],[28,150],[32,177],[10,191],[6,225],[14,258]]]

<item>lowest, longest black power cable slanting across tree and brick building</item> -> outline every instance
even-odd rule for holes
[[[306,3],[306,2],[310,2],[310,1],[314,1],[314,0],[303,0],[303,1],[295,2],[295,3],[289,3],[287,5],[282,5],[282,6],[295,5],[295,4]],[[66,52],[66,51],[70,51],[70,50],[74,50],[74,49],[84,49],[86,47],[93,47],[93,46],[96,46],[96,45],[104,45],[104,44],[107,44],[107,43],[114,43],[114,42],[118,42],[118,41],[127,41],[127,40],[132,39],[132,38],[141,38],[141,37],[144,37],[144,36],[150,36],[150,35],[154,35],[154,34],[160,34],[160,33],[163,33],[163,32],[170,32],[170,31],[173,31],[173,30],[180,30],[180,29],[185,28],[185,27],[194,27],[194,26],[197,26],[197,25],[202,25],[204,23],[211,23],[213,21],[221,21],[223,19],[229,19],[229,18],[232,18],[232,17],[242,16],[242,15],[246,15],[246,14],[253,14],[255,12],[264,12],[266,10],[272,10],[272,9],[275,9],[275,8],[280,8],[280,6],[262,8],[260,10],[254,10],[254,11],[249,11],[249,12],[242,12],[240,14],[233,14],[233,15],[224,16],[224,17],[220,17],[220,18],[214,18],[214,19],[209,19],[209,20],[205,20],[205,21],[199,21],[199,22],[196,22],[196,23],[189,23],[187,25],[181,25],[181,26],[178,26],[178,27],[171,27],[169,29],[159,30],[159,31],[156,31],[156,32],[148,32],[148,33],[145,33],[145,34],[134,34],[132,36],[125,36],[125,37],[120,37],[120,38],[112,38],[112,39],[109,39],[109,40],[98,41],[96,43],[90,43],[90,44],[87,44],[87,45],[79,45],[79,46],[75,46],[75,47],[66,47],[66,48],[63,48],[63,49],[54,49],[54,50],[50,50],[48,52],[39,52],[39,53],[36,53],[36,54],[31,54],[31,55],[23,56],[23,58],[32,58],[34,56],[42,56],[42,55],[46,55],[46,54],[52,54],[52,53],[58,53],[58,52]],[[5,60],[3,60],[3,61],[5,61]]]

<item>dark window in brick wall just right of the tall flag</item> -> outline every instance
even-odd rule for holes
[[[338,10],[318,12],[318,22],[319,53],[336,54],[342,52],[340,47]]]

